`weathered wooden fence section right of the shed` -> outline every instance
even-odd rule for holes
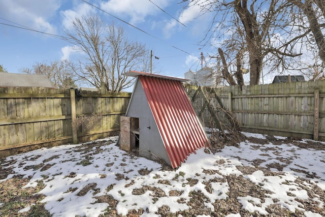
[[[196,88],[186,89],[193,98]],[[205,90],[215,92],[224,109],[235,114],[242,131],[325,140],[325,80]],[[192,102],[207,127],[211,127],[213,119],[207,104],[216,110],[221,121],[227,121],[218,112],[220,103],[211,96],[207,99],[197,94]]]

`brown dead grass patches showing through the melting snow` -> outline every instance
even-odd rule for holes
[[[229,135],[228,135],[229,136]],[[222,137],[222,135],[219,135],[217,138],[221,139],[224,141],[224,139],[227,140],[228,136]],[[238,140],[243,140],[245,139],[242,136],[238,136]],[[277,140],[274,137],[268,137],[267,139],[253,139],[253,138],[246,138],[250,142],[254,142],[256,144],[256,148],[262,148],[263,149],[263,144],[269,144],[269,142],[276,143],[277,144],[282,144],[285,142],[292,142],[298,147],[301,148],[314,148],[319,150],[319,148],[324,148],[323,145],[319,145],[320,143],[311,143],[310,145],[307,145],[303,143],[302,141],[296,141],[296,140],[290,140],[290,139],[284,139],[284,140]],[[220,140],[220,141],[221,141]],[[229,140],[228,140],[229,141]],[[233,140],[235,141],[235,140]],[[87,153],[90,150],[93,153],[96,153],[97,151],[101,151],[100,147],[103,144],[107,144],[107,142],[92,142],[92,143],[87,143],[87,145],[80,146],[77,149],[83,153]],[[226,142],[224,145],[230,145],[231,143]],[[221,147],[218,147],[221,148]],[[217,148],[216,148],[217,149]],[[215,149],[215,150],[216,150]],[[325,148],[324,148],[325,149]],[[276,148],[275,148],[276,150]],[[321,149],[323,150],[323,149]],[[92,153],[92,154],[93,154]],[[80,165],[87,166],[89,165],[90,160],[92,159],[91,155],[92,154],[85,154],[85,158],[79,163]],[[131,153],[131,156],[134,153]],[[135,154],[136,155],[136,154]],[[35,159],[38,158],[39,156],[35,156]],[[53,156],[51,159],[58,158],[58,156]],[[12,162],[5,162],[4,159],[0,159],[2,166],[0,167],[0,179],[6,178],[9,174],[12,174],[12,168],[7,166],[10,166]],[[74,160],[74,159],[72,159]],[[280,159],[281,160],[281,159]],[[37,164],[37,165],[32,165],[30,166],[29,169],[42,169],[46,170],[50,168],[52,165],[51,164],[44,164],[50,160],[44,160],[42,164]],[[254,161],[254,167],[248,167],[248,166],[237,166],[237,169],[242,172],[242,174],[249,175],[255,172],[256,170],[261,170],[266,176],[276,176],[276,175],[283,175],[283,172],[273,172],[270,169],[271,168],[276,168],[278,171],[282,171],[284,165],[286,163],[286,160],[283,160],[283,165],[282,164],[269,164],[267,165],[268,168],[262,168],[259,165],[263,163],[264,161]],[[224,164],[225,162],[222,160],[216,162],[217,164]],[[23,166],[23,165],[21,165]],[[107,167],[113,166],[113,164],[107,164]],[[27,169],[27,168],[26,168]],[[169,171],[172,170],[170,166],[164,167],[163,170]],[[296,172],[301,172],[304,174],[307,174],[310,178],[315,177],[315,174],[309,173],[306,171],[306,168],[301,168],[301,169],[293,169]],[[148,175],[151,170],[148,169],[141,169],[138,171],[139,174],[141,175]],[[221,176],[218,170],[203,170],[203,173],[206,174],[216,174],[218,176]],[[105,175],[105,174],[103,174]],[[176,174],[176,176],[173,178],[173,180],[178,180],[179,178],[184,178],[184,173],[180,172]],[[200,174],[197,174],[198,176]],[[70,175],[67,177],[75,177],[76,173],[71,172]],[[45,179],[46,177],[44,177]],[[116,179],[121,180],[124,178],[123,174],[116,174]],[[154,178],[161,178],[161,177],[154,177]],[[198,179],[195,177],[192,178],[187,178],[187,183],[188,186],[193,186],[197,184]],[[51,214],[44,208],[44,204],[40,203],[40,201],[44,198],[44,195],[37,194],[39,191],[41,191],[44,188],[44,184],[42,181],[38,182],[38,185],[36,188],[22,188],[24,185],[26,185],[29,182],[29,178],[23,178],[21,176],[14,176],[10,179],[7,179],[3,182],[0,182],[0,198],[1,198],[1,203],[3,203],[0,206],[0,216],[51,216]],[[178,203],[186,203],[189,208],[183,211],[177,211],[175,213],[171,213],[170,207],[168,206],[162,206],[158,209],[158,211],[155,214],[161,215],[161,216],[171,216],[171,217],[176,217],[179,215],[182,216],[196,216],[196,215],[210,215],[210,216],[225,216],[228,214],[232,213],[240,213],[241,216],[261,216],[257,212],[250,213],[247,210],[242,209],[241,204],[238,202],[238,197],[245,197],[245,196],[252,196],[255,198],[261,199],[261,202],[263,203],[265,200],[265,197],[267,194],[270,192],[267,192],[264,190],[261,186],[256,185],[250,181],[248,181],[246,178],[243,176],[236,176],[236,175],[222,175],[222,178],[215,178],[211,179],[209,181],[203,182],[205,185],[205,190],[208,191],[209,193],[212,193],[212,182],[226,182],[229,185],[230,191],[226,193],[227,197],[226,199],[222,200],[216,200],[215,203],[213,203],[214,210],[207,208],[205,206],[205,203],[209,202],[209,199],[202,194],[200,191],[192,191],[189,194],[189,200],[186,200],[185,198],[182,198],[181,195],[183,194],[182,191],[170,191],[168,194],[165,193],[163,190],[161,190],[158,187],[152,187],[148,185],[142,186],[142,188],[135,189],[132,194],[135,195],[142,195],[145,194],[146,192],[150,191],[150,195],[153,197],[153,202],[157,201],[161,197],[166,197],[166,196],[176,196],[179,197]],[[171,180],[167,179],[162,179],[159,180],[159,184],[165,184],[165,185],[170,185]],[[318,195],[323,203],[325,203],[325,193],[322,191],[317,185],[307,179],[304,178],[298,178],[295,183],[302,189],[306,190],[308,192],[308,195],[310,198],[313,198],[314,195]],[[308,184],[308,187],[306,185]],[[130,185],[134,184],[134,182],[131,182],[127,185],[125,185],[125,188],[129,187]],[[285,183],[283,183],[285,184]],[[83,189],[80,191],[77,191],[78,189],[69,189],[68,192],[78,192],[77,195],[82,197],[86,195],[89,191],[92,191],[93,194],[95,194],[98,189],[96,189],[97,184],[96,183],[89,183],[87,184]],[[112,190],[114,185],[109,185],[107,187],[107,192]],[[120,191],[120,195],[123,196],[123,191]],[[108,203],[109,206],[106,208],[105,213],[100,215],[101,217],[104,216],[118,216],[122,217],[121,215],[117,214],[116,211],[116,206],[118,204],[118,201],[115,200],[112,196],[110,195],[103,195],[100,197],[94,197],[96,199],[96,203]],[[276,201],[274,201],[276,202]],[[316,201],[303,201],[299,200],[298,202],[302,203],[304,205],[304,208],[307,211],[314,211],[317,213],[320,213],[322,216],[325,216],[325,210],[322,210],[319,208],[319,203]],[[136,203],[136,202],[135,202]],[[32,205],[34,204],[34,205]],[[30,206],[30,210],[23,212],[23,213],[18,213],[18,211],[22,208],[25,208],[27,206]],[[140,216],[143,214],[145,211],[148,210],[129,210],[127,216]],[[272,213],[270,216],[304,216],[303,212],[301,211],[296,211],[295,213],[288,211],[288,209],[283,208],[279,204],[273,204],[270,205],[266,208],[266,211],[269,213]]]

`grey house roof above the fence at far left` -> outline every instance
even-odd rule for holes
[[[55,86],[45,75],[0,72],[0,87],[51,87]]]

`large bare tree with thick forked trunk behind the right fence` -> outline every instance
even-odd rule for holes
[[[274,66],[284,69],[292,58],[301,55],[294,45],[303,36],[281,38],[283,33],[290,36],[293,30],[286,29],[291,23],[291,18],[285,14],[290,6],[287,1],[209,0],[204,4],[201,0],[185,2],[200,6],[203,13],[214,13],[203,41],[210,43],[215,38],[224,38],[219,41],[217,48],[221,47],[223,52],[232,56],[234,65],[238,63],[236,59],[247,55],[251,85],[259,83],[267,56],[269,61],[273,60]],[[240,56],[239,52],[242,52]]]

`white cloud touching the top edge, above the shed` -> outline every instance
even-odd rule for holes
[[[160,8],[165,8],[170,0],[153,1]],[[148,0],[109,0],[101,4],[101,9],[118,14],[121,18],[130,18],[132,24],[144,22],[149,15],[155,15],[159,9]]]

